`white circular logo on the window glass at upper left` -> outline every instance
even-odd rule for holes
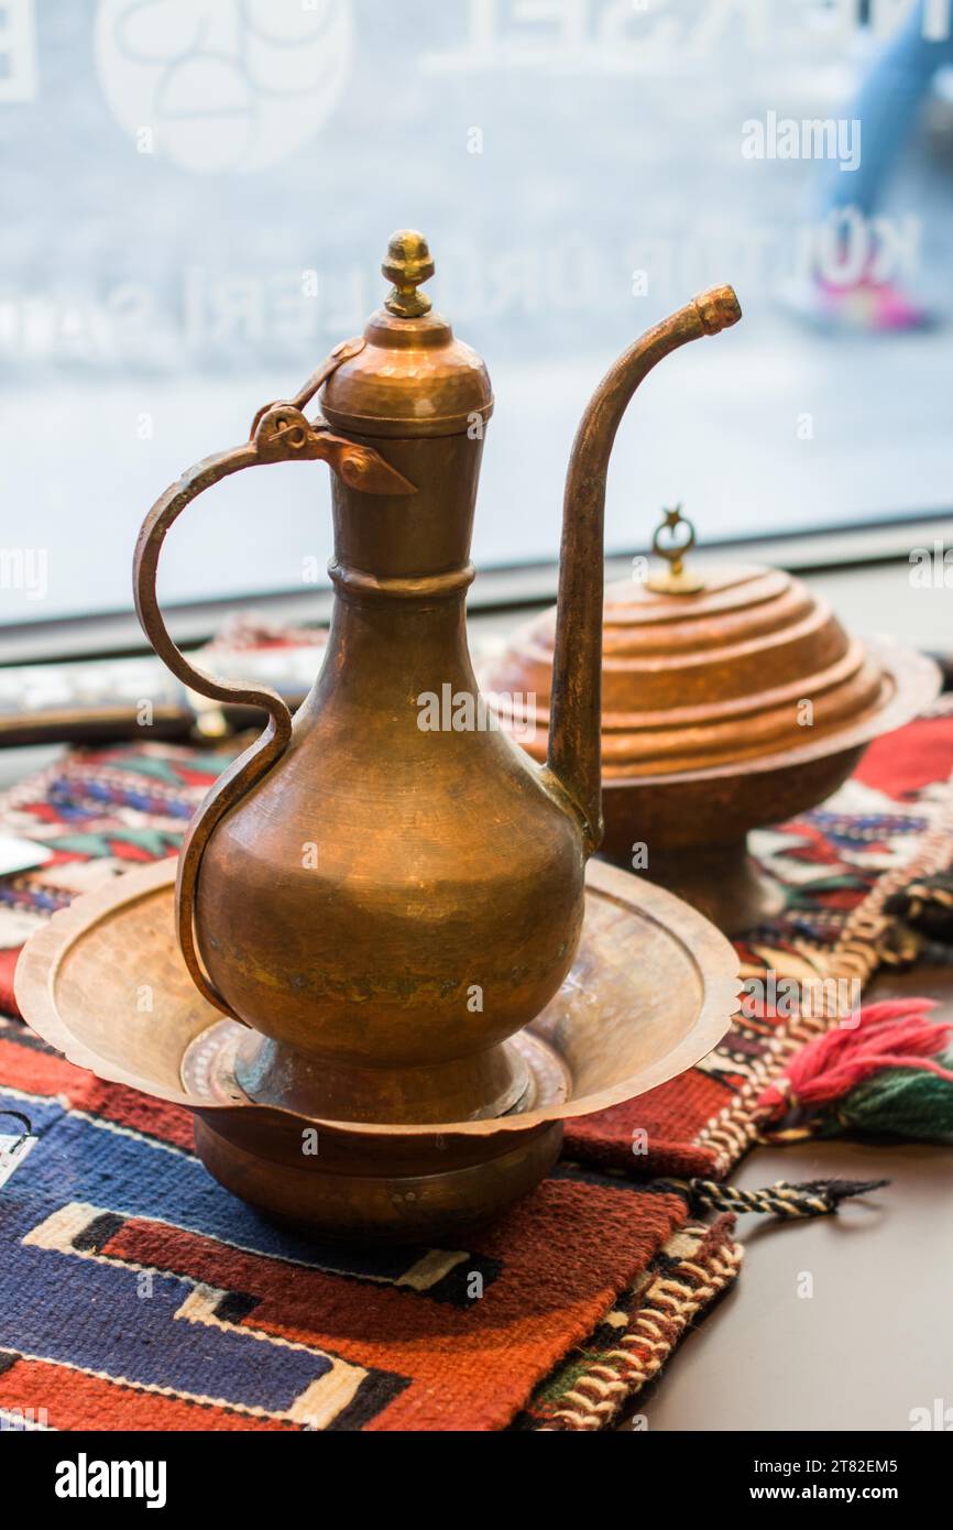
[[[350,0],[99,0],[102,93],[144,151],[197,174],[263,170],[330,116]]]

